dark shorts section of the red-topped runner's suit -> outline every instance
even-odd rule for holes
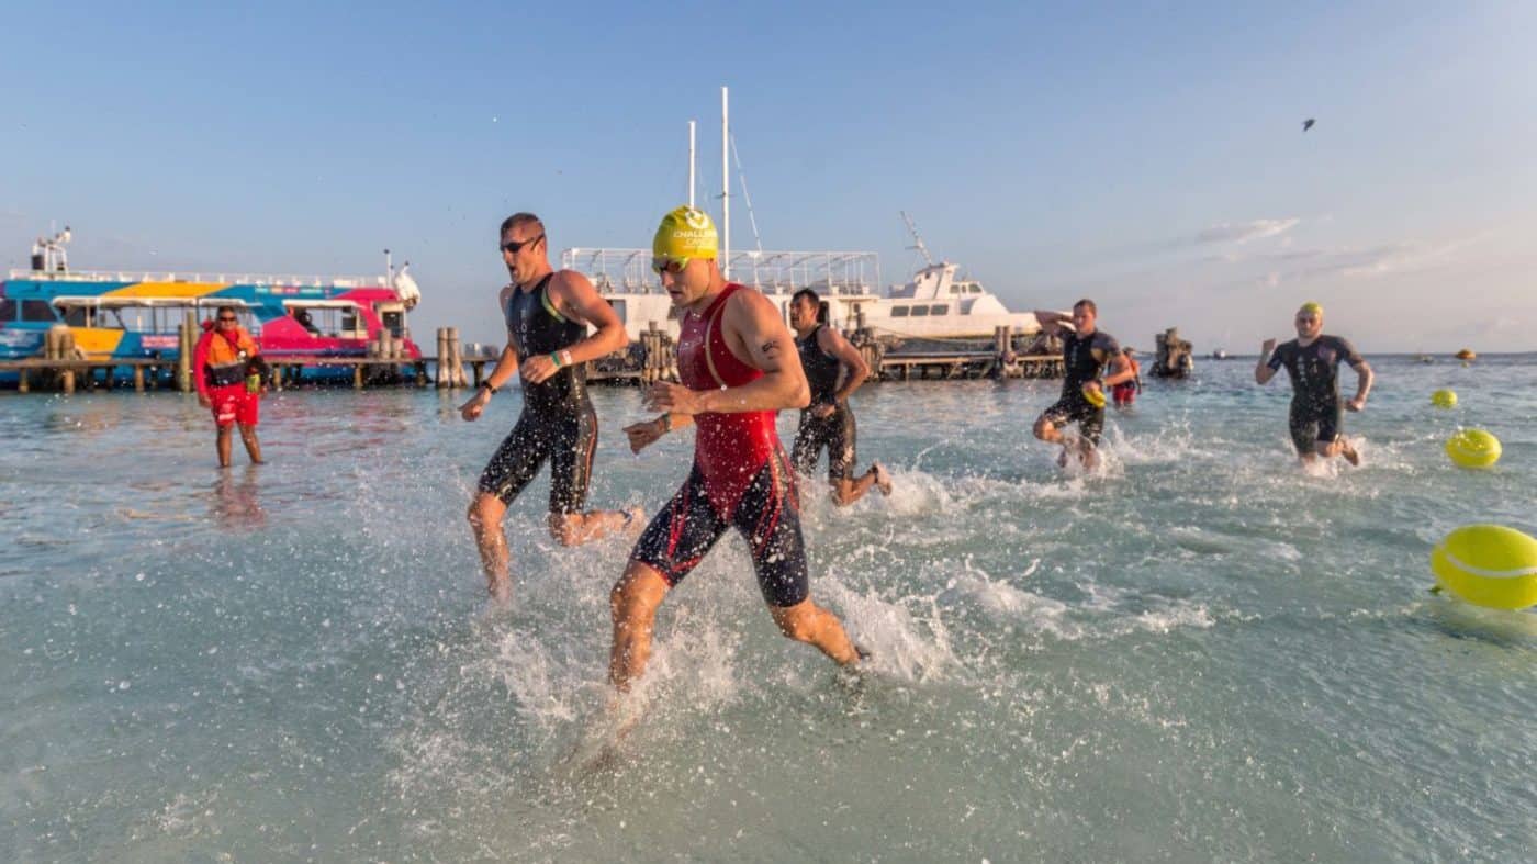
[[[782,450],[758,469],[730,520],[710,504],[704,474],[695,466],[682,489],[646,527],[630,560],[655,567],[667,584],[676,586],[729,527],[747,540],[758,590],[768,606],[795,606],[810,595],[801,504]]]

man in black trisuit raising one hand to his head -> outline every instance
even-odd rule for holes
[[[1048,334],[1062,338],[1062,398],[1045,409],[1036,418],[1036,438],[1053,444],[1062,444],[1059,464],[1067,464],[1068,440],[1061,427],[1077,423],[1077,458],[1084,467],[1099,464],[1099,434],[1105,429],[1105,390],[1122,381],[1130,381],[1136,374],[1116,337],[1096,329],[1099,309],[1093,300],[1079,300],[1073,304],[1073,315],[1061,312],[1036,311],[1036,320]],[[1073,321],[1073,332],[1062,326],[1062,321]],[[1105,380],[1099,380],[1100,371],[1110,366]]]

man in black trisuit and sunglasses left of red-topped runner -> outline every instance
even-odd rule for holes
[[[481,474],[469,510],[486,586],[495,601],[509,604],[512,577],[501,520],[546,460],[550,461],[550,537],[561,546],[644,523],[635,521],[639,507],[584,509],[598,447],[598,415],[587,398],[586,363],[622,349],[629,343],[624,324],[587,277],[550,268],[544,223],[536,215],[507,217],[498,246],[512,277],[498,297],[507,320],[507,344],[496,369],[460,406],[460,414],[464,420],[478,418],[490,397],[523,374],[523,414]],[[596,327],[590,337],[589,324]]]

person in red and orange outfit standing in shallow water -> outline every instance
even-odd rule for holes
[[[212,326],[211,326],[212,324]],[[231,430],[240,427],[251,464],[261,464],[257,441],[257,415],[261,400],[261,367],[257,340],[240,326],[234,306],[220,306],[214,321],[204,321],[203,335],[192,349],[192,380],[197,401],[214,412],[218,429],[215,449],[218,467],[229,467]]]

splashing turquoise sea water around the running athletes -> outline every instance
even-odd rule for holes
[[[1030,437],[1057,383],[867,386],[898,490],[805,529],[875,672],[778,636],[733,537],[598,767],[629,543],[556,547],[541,478],[495,615],[464,523],[516,395],[274,395],[227,472],[188,397],[0,397],[0,856],[1528,859],[1537,615],[1426,587],[1452,527],[1537,533],[1537,358],[1373,361],[1319,475],[1245,360],[1150,383],[1093,477]],[[692,435],[632,457],[638,395],[596,403],[592,501],[653,512]]]

